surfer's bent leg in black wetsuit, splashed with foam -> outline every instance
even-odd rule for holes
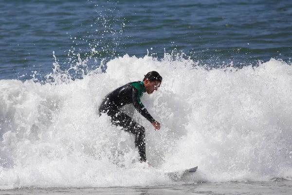
[[[135,135],[135,146],[138,148],[140,161],[146,161],[145,128],[125,113],[112,116],[111,121],[113,124],[123,127],[124,131]]]

